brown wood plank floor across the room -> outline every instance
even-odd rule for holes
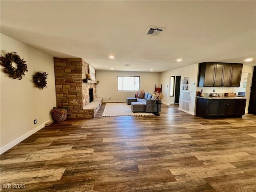
[[[255,115],[203,119],[162,105],[160,116],[100,117],[103,108],[2,154],[1,192],[256,192]]]

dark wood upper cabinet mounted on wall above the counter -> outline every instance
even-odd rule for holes
[[[204,62],[199,64],[199,87],[239,87],[243,64]]]

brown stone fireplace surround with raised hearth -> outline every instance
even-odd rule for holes
[[[82,58],[54,58],[56,105],[68,107],[68,118],[94,118],[102,104],[102,99],[96,100],[96,83],[82,82],[89,73],[88,66]],[[90,88],[98,102],[92,108],[89,107]]]

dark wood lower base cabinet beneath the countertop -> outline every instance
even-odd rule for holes
[[[196,115],[204,118],[242,116],[246,99],[206,99],[197,98]]]

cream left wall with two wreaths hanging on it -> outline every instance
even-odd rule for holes
[[[56,106],[53,57],[1,34],[1,54],[17,52],[28,65],[22,80],[9,78],[0,71],[1,80],[1,154],[44,127]],[[47,72],[47,88],[34,88],[32,74]],[[34,124],[34,119],[37,124]]]

